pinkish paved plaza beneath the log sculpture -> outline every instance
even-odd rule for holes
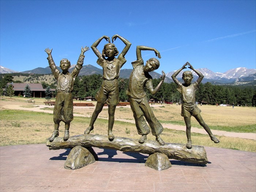
[[[0,147],[0,191],[255,192],[256,153],[205,147],[209,163],[170,159],[157,171],[141,153],[95,148],[99,161],[76,170],[64,168],[70,149],[45,144]]]

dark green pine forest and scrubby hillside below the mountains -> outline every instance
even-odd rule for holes
[[[127,101],[126,90],[129,79],[119,78],[119,98],[121,101]],[[157,86],[160,79],[153,79],[154,87]],[[44,88],[56,88],[56,80],[53,75],[41,74],[0,74],[0,86],[5,88],[7,83],[41,83]],[[102,83],[102,75],[94,74],[89,76],[78,76],[74,84],[74,97],[94,97]],[[180,93],[177,91],[175,83],[163,83],[157,94],[151,95],[147,91],[148,99],[156,101],[179,102]],[[196,92],[196,101],[206,102],[209,105],[216,103],[230,104],[239,106],[256,106],[256,86],[231,86],[231,85],[214,85],[209,82],[200,83],[200,89]]]

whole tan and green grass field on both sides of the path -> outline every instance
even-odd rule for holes
[[[47,138],[52,134],[54,123],[53,114],[34,112],[26,110],[9,110],[4,105],[15,104],[23,108],[35,107],[44,104],[45,99],[35,98],[35,103],[25,103],[25,98],[8,98],[4,97],[0,100],[0,145],[17,145],[30,143],[45,143]],[[80,101],[74,101],[80,102]],[[84,101],[82,101],[84,102]],[[50,109],[45,106],[46,109]],[[179,105],[153,105],[155,116],[164,123],[184,124],[183,118],[180,116],[181,107]],[[236,132],[254,132],[256,127],[256,108],[249,107],[216,107],[201,106],[202,117],[211,129],[221,129],[225,131]],[[91,115],[94,108],[74,108],[74,113]],[[101,117],[108,117],[108,110],[103,109],[99,114]],[[117,108],[116,118],[133,119],[130,108]],[[74,117],[71,122],[70,135],[81,135],[89,125],[90,118]],[[192,118],[192,126],[200,127],[197,121]],[[106,135],[108,121],[98,118],[95,122],[93,134]],[[123,121],[115,121],[113,127],[114,135],[118,137],[126,137],[139,139],[140,136],[136,131],[135,124],[125,123]],[[64,123],[60,125],[60,137],[64,135]],[[164,129],[162,138],[167,143],[187,143],[184,131],[176,131],[172,129]],[[229,138],[219,136],[220,143],[213,143],[209,136],[198,133],[192,134],[192,142],[194,145],[211,146],[220,148],[231,148],[242,151],[256,152],[256,141],[240,138]],[[149,134],[148,139],[154,140],[155,137]]]

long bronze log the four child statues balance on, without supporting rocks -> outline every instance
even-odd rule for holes
[[[187,149],[184,144],[166,143],[166,145],[161,146],[158,142],[151,140],[146,140],[146,142],[140,144],[138,140],[120,137],[116,137],[113,141],[109,141],[108,136],[106,135],[76,135],[71,136],[67,141],[64,141],[61,137],[57,137],[52,142],[48,139],[46,146],[48,146],[50,150],[73,148],[75,146],[100,147],[150,155],[154,153],[162,153],[167,155],[169,159],[177,159],[192,163],[207,164],[208,161],[203,146],[192,146],[191,149]]]

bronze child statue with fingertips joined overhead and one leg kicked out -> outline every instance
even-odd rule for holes
[[[186,65],[189,65],[188,68],[192,69],[196,72],[199,78],[196,80],[195,83],[191,83],[193,79],[193,75],[191,71],[185,71],[182,74],[182,79],[184,80],[184,84],[180,83],[176,76],[181,72],[182,69],[187,68]],[[187,148],[192,148],[192,141],[191,141],[191,116],[194,116],[199,124],[206,130],[208,135],[210,136],[211,140],[214,143],[219,143],[219,140],[212,134],[211,129],[208,127],[200,114],[201,110],[196,106],[196,90],[199,89],[199,84],[203,80],[204,76],[201,72],[197,71],[192,67],[192,65],[187,62],[185,63],[182,68],[178,69],[173,75],[173,81],[178,85],[177,90],[182,95],[182,105],[181,105],[181,116],[184,117],[184,121],[186,124],[186,134],[187,134]]]

